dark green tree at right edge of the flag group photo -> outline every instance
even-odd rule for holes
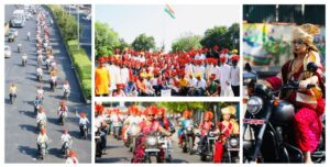
[[[208,48],[218,45],[220,48],[239,49],[240,26],[238,23],[234,23],[229,29],[227,26],[208,29],[200,44]]]

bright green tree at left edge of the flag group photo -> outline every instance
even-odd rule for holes
[[[100,22],[95,23],[95,29],[96,56],[112,55],[114,48],[121,44],[118,33],[108,24]]]

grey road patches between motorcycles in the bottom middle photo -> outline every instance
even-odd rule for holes
[[[200,156],[197,154],[189,155],[188,153],[183,153],[183,149],[179,148],[177,142],[177,133],[173,135],[173,163],[212,163],[212,162],[201,162]],[[198,137],[195,141],[195,153],[197,149],[197,143],[199,142]],[[96,163],[131,163],[131,158],[133,157],[133,153],[129,151],[128,147],[123,145],[122,141],[117,141],[112,135],[108,136],[108,145],[107,145],[108,154],[102,155],[101,158],[96,159]]]

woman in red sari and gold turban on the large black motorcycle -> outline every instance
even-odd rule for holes
[[[261,82],[273,90],[278,90],[283,84],[292,80],[299,81],[300,90],[285,92],[283,98],[293,102],[298,109],[295,114],[294,127],[296,143],[304,154],[305,163],[312,163],[311,153],[320,142],[322,134],[320,118],[324,113],[326,105],[323,67],[320,63],[319,51],[314,44],[314,36],[319,33],[319,27],[314,24],[302,24],[294,29],[293,53],[295,58],[282,66],[279,75]],[[305,73],[308,63],[315,63],[318,66],[316,73]],[[306,89],[310,84],[316,87]],[[299,100],[302,97],[304,100]]]

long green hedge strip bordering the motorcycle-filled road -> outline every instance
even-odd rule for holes
[[[62,37],[66,42],[65,45],[79,76],[82,93],[87,99],[91,99],[91,62],[81,47],[78,49],[76,19],[70,16],[61,5],[50,4],[47,7],[53,12]]]

